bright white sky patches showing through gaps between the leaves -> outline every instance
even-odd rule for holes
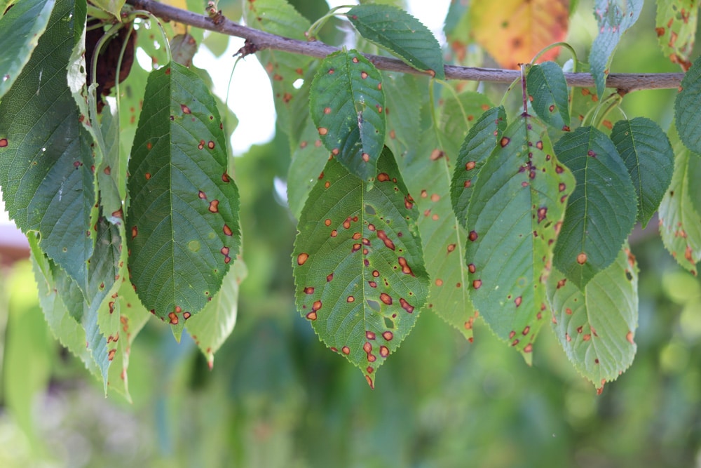
[[[348,0],[327,0],[329,8],[357,3]],[[428,29],[433,31],[438,41],[444,44],[442,33],[443,21],[448,11],[450,0],[408,0],[408,10]],[[235,59],[232,55],[243,46],[243,39],[231,37],[229,48],[221,57],[216,58],[206,47],[200,47],[193,62],[200,68],[207,69],[215,83],[214,93],[222,100],[226,99],[226,88],[231,76]],[[138,57],[137,57],[138,58]],[[151,65],[147,60],[143,66]],[[238,117],[238,127],[231,137],[235,156],[241,156],[251,145],[268,142],[275,134],[275,106],[270,80],[258,60],[249,55],[240,60],[231,81],[229,107]],[[4,210],[0,199],[0,224],[13,224]]]

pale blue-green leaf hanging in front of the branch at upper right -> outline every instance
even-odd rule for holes
[[[613,52],[626,30],[638,20],[643,9],[643,0],[596,0],[594,16],[599,23],[599,34],[589,53],[597,95],[601,98],[606,88],[608,66],[611,65]]]

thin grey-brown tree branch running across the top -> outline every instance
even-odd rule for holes
[[[273,49],[290,53],[308,55],[310,57],[325,58],[330,53],[334,53],[339,48],[323,44],[319,41],[297,41],[287,37],[276,36],[267,32],[259,31],[239,25],[231,20],[219,20],[217,24],[205,16],[182,10],[173,6],[161,4],[154,0],[126,0],[127,4],[137,9],[147,10],[164,21],[180,22],[184,25],[200,27],[209,31],[228,34],[246,39],[249,42],[250,50],[260,51],[263,49]],[[380,55],[364,54],[375,67],[388,70],[390,72],[402,72],[411,74],[426,74],[420,72],[396,58],[382,57]],[[458,67],[456,65],[446,65],[445,76],[448,79],[470,80],[470,81],[491,81],[494,83],[511,83],[521,76],[519,70]],[[606,87],[616,88],[619,93],[625,94],[630,91],[642,89],[671,89],[679,88],[683,73],[613,73],[608,76]],[[580,88],[594,86],[594,79],[589,73],[566,73],[565,79],[569,86]]]

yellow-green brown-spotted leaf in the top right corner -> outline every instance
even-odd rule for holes
[[[655,32],[665,57],[686,72],[694,48],[698,22],[697,0],[658,0]]]

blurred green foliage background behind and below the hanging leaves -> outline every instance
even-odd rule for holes
[[[292,3],[311,19],[327,8]],[[590,11],[581,1],[571,19],[583,57]],[[677,69],[655,43],[648,1],[612,72],[662,71]],[[673,95],[632,93],[623,109],[667,128]],[[191,339],[178,345],[151,321],[132,347],[133,402],[104,399],[50,336],[29,262],[0,270],[0,467],[701,466],[701,285],[654,222],[632,242],[637,356],[600,396],[549,329],[529,368],[481,323],[470,344],[430,311],[373,391],[294,307],[295,221],[273,188],[290,154],[278,135],[236,160],[249,274],[211,371]]]

